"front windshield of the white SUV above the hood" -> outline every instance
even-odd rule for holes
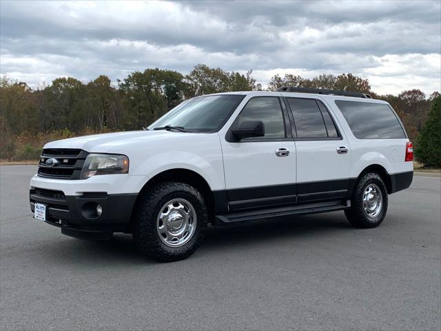
[[[221,94],[189,99],[154,122],[149,130],[171,126],[191,132],[216,132],[244,97]]]

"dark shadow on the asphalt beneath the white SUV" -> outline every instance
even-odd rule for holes
[[[351,230],[351,225],[342,213],[317,214],[291,218],[272,218],[249,221],[237,225],[209,226],[204,244],[200,248],[207,257],[218,252],[225,252],[235,247],[271,243],[284,239],[304,239],[310,236],[327,236],[335,232]],[[130,234],[114,234],[110,241],[85,241],[66,238],[57,243],[57,250],[48,250],[52,261],[63,263],[105,264],[156,264],[147,259],[137,249]],[[50,253],[50,252],[53,252]],[[60,254],[62,253],[62,254]],[[196,256],[194,257],[196,258]]]

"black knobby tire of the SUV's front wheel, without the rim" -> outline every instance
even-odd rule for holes
[[[189,241],[179,247],[166,245],[159,237],[156,225],[161,208],[173,199],[185,199],[192,204],[196,213],[194,233]],[[208,220],[207,204],[198,190],[185,183],[171,181],[158,183],[143,192],[136,203],[132,219],[133,239],[143,254],[156,261],[172,262],[187,259],[201,245]]]

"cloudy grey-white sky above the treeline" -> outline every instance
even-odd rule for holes
[[[196,63],[265,84],[352,72],[378,93],[440,90],[441,1],[0,1],[0,72],[31,86]]]

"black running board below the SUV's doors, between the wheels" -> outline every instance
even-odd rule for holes
[[[318,214],[320,212],[335,212],[351,207],[351,201],[329,201],[321,203],[307,203],[302,205],[289,205],[260,210],[232,212],[231,214],[216,215],[214,225],[228,225],[252,219],[268,219],[287,215]]]

